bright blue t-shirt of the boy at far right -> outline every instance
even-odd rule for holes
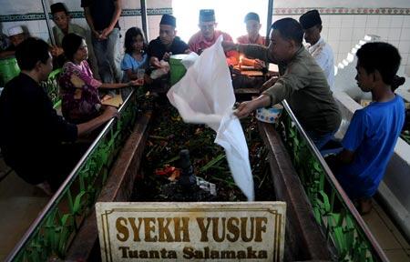
[[[349,196],[374,195],[404,125],[404,112],[405,103],[397,95],[391,101],[373,102],[354,112],[353,128],[343,141],[343,147],[355,149],[354,161],[337,171]]]

